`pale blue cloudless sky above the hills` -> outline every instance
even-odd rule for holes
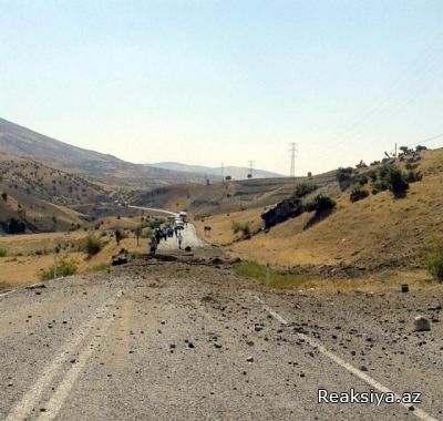
[[[297,175],[443,133],[443,1],[0,0],[0,116],[136,163]],[[443,137],[426,144],[443,146]]]

